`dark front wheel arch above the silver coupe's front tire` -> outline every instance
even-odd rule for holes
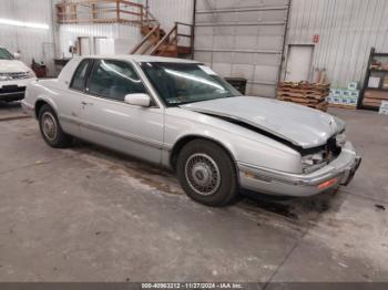
[[[225,153],[231,157],[231,159],[233,160],[234,165],[235,165],[235,169],[238,176],[238,168],[237,168],[237,162],[234,157],[233,151],[231,148],[228,148],[228,146],[226,146],[225,144],[223,144],[221,141],[208,137],[208,136],[202,136],[202,135],[186,135],[181,137],[180,139],[177,139],[173,146],[173,148],[171,149],[171,154],[170,154],[170,165],[173,168],[173,170],[176,169],[176,162],[177,162],[177,156],[180,155],[180,152],[182,151],[182,148],[188,144],[192,141],[195,139],[203,139],[203,141],[210,141],[216,145],[218,145],[221,148],[223,148],[225,151]]]

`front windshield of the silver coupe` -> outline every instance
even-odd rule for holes
[[[167,106],[241,95],[202,64],[144,62],[141,66]]]

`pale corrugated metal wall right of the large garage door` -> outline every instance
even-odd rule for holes
[[[287,44],[314,44],[318,34],[312,75],[326,69],[333,86],[346,86],[364,81],[371,46],[388,52],[387,15],[386,0],[292,0]]]

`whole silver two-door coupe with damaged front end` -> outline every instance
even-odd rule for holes
[[[195,61],[73,59],[57,80],[31,83],[22,106],[50,146],[74,136],[172,168],[208,206],[232,203],[239,189],[316,195],[347,185],[361,160],[339,118],[243,96]]]

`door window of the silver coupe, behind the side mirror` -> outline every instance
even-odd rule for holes
[[[92,70],[89,92],[103,97],[124,101],[126,94],[146,93],[131,64],[114,60],[101,60]]]

